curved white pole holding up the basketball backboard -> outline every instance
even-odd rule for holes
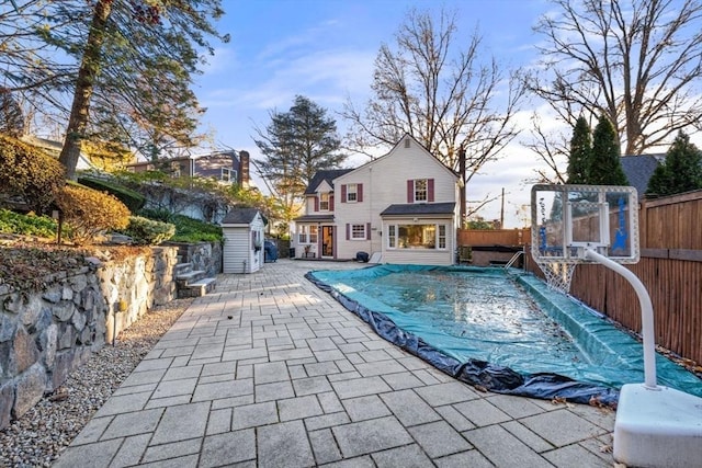
[[[593,260],[608,269],[624,276],[626,281],[634,287],[638,296],[641,305],[642,318],[642,338],[644,341],[644,387],[647,390],[659,390],[656,385],[656,343],[654,335],[654,306],[650,296],[646,290],[646,286],[636,277],[634,273],[626,270],[621,264],[610,260],[609,258],[598,253],[595,249],[587,247],[585,249],[585,258]]]

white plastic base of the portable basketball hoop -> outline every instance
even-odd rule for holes
[[[702,398],[657,386],[622,387],[614,423],[614,459],[641,468],[702,463]]]

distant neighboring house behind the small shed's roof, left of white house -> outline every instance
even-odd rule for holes
[[[170,171],[173,178],[213,178],[223,184],[250,184],[248,151],[218,151],[210,155],[160,159],[127,164],[127,171],[145,172],[157,169]]]

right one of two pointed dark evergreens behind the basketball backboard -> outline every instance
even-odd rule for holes
[[[629,185],[622,169],[616,132],[604,114],[592,132],[592,158],[587,168],[587,182],[590,185]]]

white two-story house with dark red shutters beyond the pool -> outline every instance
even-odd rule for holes
[[[358,169],[319,171],[295,219],[295,256],[453,264],[458,184],[410,135]]]

